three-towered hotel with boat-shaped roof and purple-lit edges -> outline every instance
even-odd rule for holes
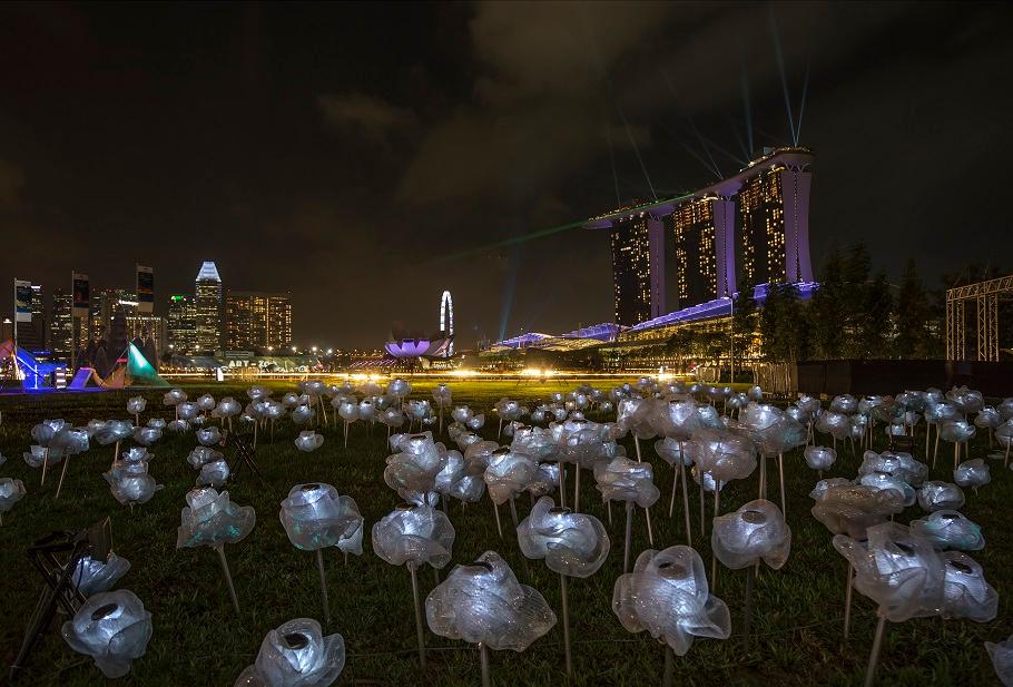
[[[738,174],[692,194],[588,220],[608,229],[616,324],[735,294],[741,284],[812,282],[807,148],[768,148]]]

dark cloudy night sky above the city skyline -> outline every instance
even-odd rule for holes
[[[607,234],[495,244],[737,170],[744,90],[753,148],[790,143],[778,46],[817,267],[860,239],[894,279],[1009,269],[1011,29],[970,3],[4,3],[0,284],[141,263],[164,312],[214,259],[291,289],[307,346],[436,328],[444,288],[465,345],[609,321]]]

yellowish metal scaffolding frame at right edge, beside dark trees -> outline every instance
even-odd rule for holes
[[[976,311],[977,360],[999,361],[999,300],[1013,297],[1013,274],[946,291],[946,360],[967,360],[967,304]]]

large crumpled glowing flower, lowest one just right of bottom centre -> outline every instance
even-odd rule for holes
[[[728,607],[710,593],[704,561],[689,547],[649,549],[633,571],[616,580],[612,611],[630,632],[647,630],[677,656],[686,656],[695,637],[728,639]]]

